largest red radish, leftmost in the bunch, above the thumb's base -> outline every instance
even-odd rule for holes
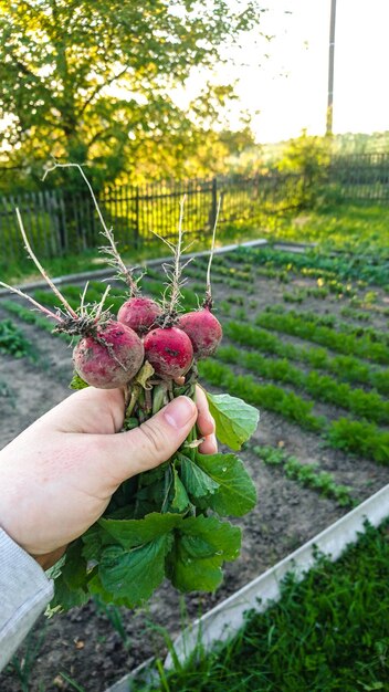
[[[109,319],[96,327],[94,336],[84,336],[73,352],[76,373],[99,389],[124,387],[144,361],[144,345],[138,335]]]

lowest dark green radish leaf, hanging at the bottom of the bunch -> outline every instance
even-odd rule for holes
[[[129,551],[108,546],[98,568],[104,589],[125,599],[128,607],[146,601],[165,578],[165,558],[172,542],[170,533]]]

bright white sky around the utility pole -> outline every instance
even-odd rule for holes
[[[244,66],[221,69],[239,78],[240,105],[252,116],[259,141],[296,137],[326,127],[330,0],[263,0],[262,32],[235,51]],[[389,129],[389,0],[337,0],[334,133]],[[264,53],[269,57],[263,57]],[[201,83],[197,74],[189,93]],[[187,92],[188,93],[188,92]],[[257,113],[260,112],[260,113]],[[231,124],[238,124],[232,114]]]

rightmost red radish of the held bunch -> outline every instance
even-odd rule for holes
[[[208,307],[181,315],[177,326],[188,334],[197,360],[212,356],[223,334],[219,319]]]

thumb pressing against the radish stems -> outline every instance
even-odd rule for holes
[[[117,482],[167,461],[186,440],[196,419],[193,401],[189,397],[178,397],[139,428],[109,436],[109,465],[112,471],[114,459]]]

